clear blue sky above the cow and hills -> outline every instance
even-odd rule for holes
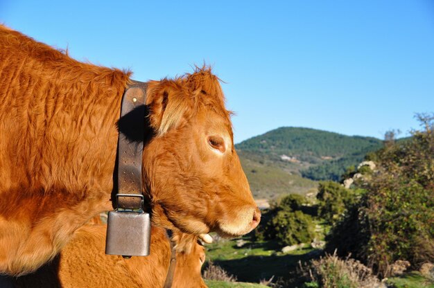
[[[0,0],[0,22],[141,81],[211,64],[236,143],[281,126],[405,136],[434,111],[431,0]]]

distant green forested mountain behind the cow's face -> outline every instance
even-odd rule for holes
[[[254,197],[314,192],[319,180],[338,181],[383,141],[301,127],[280,127],[236,145]]]

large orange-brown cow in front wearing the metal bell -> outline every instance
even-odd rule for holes
[[[34,271],[110,210],[129,82],[0,26],[0,273]],[[207,68],[148,83],[142,172],[153,225],[230,237],[259,223],[224,101]]]

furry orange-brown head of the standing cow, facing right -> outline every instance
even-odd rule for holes
[[[198,69],[151,81],[146,105],[155,136],[144,147],[153,222],[186,233],[252,231],[261,214],[234,149],[218,78]]]

